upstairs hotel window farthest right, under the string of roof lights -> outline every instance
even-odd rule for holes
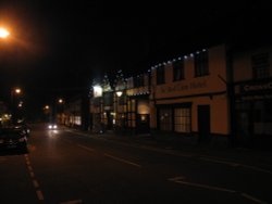
[[[209,59],[208,52],[200,52],[195,55],[195,76],[209,75]]]

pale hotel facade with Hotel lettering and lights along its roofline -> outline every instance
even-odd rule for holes
[[[150,128],[188,143],[227,145],[226,46],[201,49],[151,68]]]

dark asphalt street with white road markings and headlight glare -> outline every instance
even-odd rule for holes
[[[272,166],[33,126],[0,152],[0,203],[271,203]]]

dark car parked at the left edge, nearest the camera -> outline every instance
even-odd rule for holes
[[[0,148],[27,150],[27,132],[21,126],[10,125],[0,128]]]

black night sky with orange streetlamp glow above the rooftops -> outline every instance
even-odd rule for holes
[[[150,65],[195,48],[271,35],[271,7],[101,0],[0,0],[0,100],[20,86],[28,107],[70,97],[92,78]]]

